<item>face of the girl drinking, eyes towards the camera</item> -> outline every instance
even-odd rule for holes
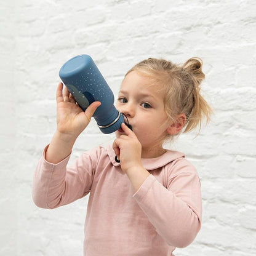
[[[142,150],[159,150],[170,121],[164,110],[164,93],[145,76],[132,71],[122,81],[116,108],[126,114]],[[116,132],[119,137],[121,132]]]

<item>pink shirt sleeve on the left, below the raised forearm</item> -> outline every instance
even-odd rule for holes
[[[36,206],[54,209],[86,196],[94,179],[97,152],[83,153],[68,166],[70,156],[58,164],[47,162],[46,146],[36,166],[32,196]]]

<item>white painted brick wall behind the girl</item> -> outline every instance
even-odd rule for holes
[[[0,255],[82,255],[87,198],[38,209],[31,179],[55,130],[58,70],[89,54],[114,94],[143,58],[204,60],[202,87],[215,115],[198,137],[182,135],[172,145],[198,167],[203,223],[176,255],[255,256],[255,28],[254,0],[2,1]],[[92,121],[71,160],[112,139]]]

